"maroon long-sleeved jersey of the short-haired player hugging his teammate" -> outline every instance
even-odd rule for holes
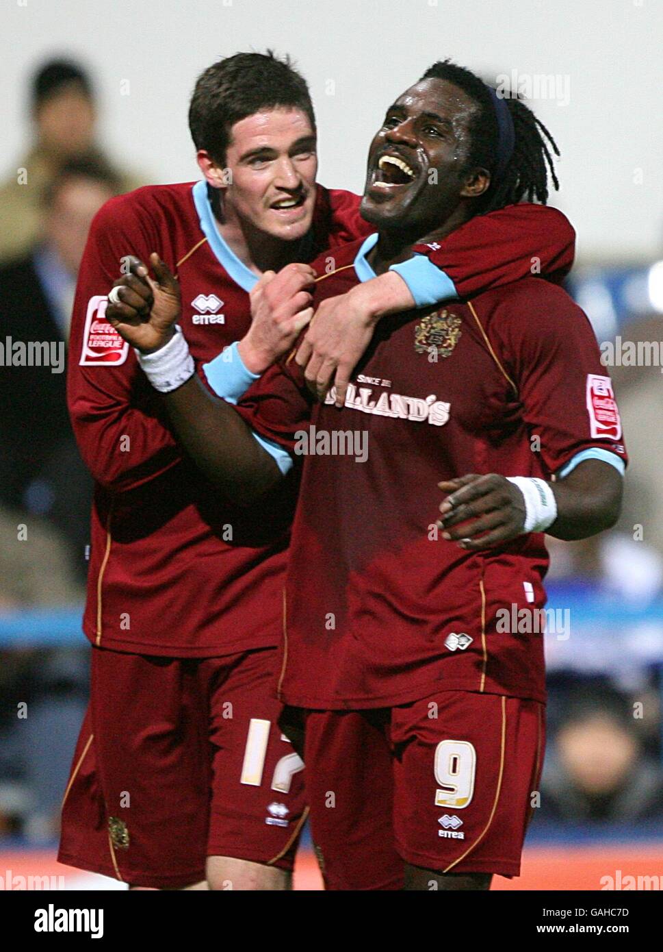
[[[370,230],[360,199],[318,187],[312,260]],[[571,267],[575,234],[553,208],[512,206],[420,248],[457,287],[514,280],[531,267]],[[479,274],[477,248],[491,243]],[[71,321],[68,404],[95,478],[84,630],[97,645],[204,657],[277,644],[293,486],[250,509],[222,499],[186,459],[161,399],[135,355],[105,320],[123,259],[157,251],[177,271],[181,326],[199,371],[244,336],[257,280],[224,243],[204,182],[139,188],[96,216]],[[201,374],[201,376],[204,375]]]

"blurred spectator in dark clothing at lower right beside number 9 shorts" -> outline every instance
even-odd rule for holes
[[[663,771],[634,709],[607,684],[576,686],[546,756],[537,822],[663,820]]]

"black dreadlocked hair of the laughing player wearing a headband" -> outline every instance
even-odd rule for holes
[[[478,111],[470,120],[471,147],[465,169],[487,169],[491,173],[491,184],[477,199],[475,213],[485,214],[523,199],[528,202],[536,200],[545,205],[548,201],[549,173],[555,188],[559,188],[551,154],[554,152],[559,155],[559,149],[532,109],[515,97],[506,100],[516,137],[511,159],[497,176],[497,115],[486,83],[469,69],[449,60],[434,63],[426,69],[421,79],[447,80],[478,104]]]

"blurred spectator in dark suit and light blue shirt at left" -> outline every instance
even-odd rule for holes
[[[89,224],[118,188],[99,160],[69,160],[44,196],[43,241],[0,268],[0,344],[8,351],[0,375],[0,503],[49,519],[68,540],[81,578],[91,482],[68,419],[65,347]],[[18,342],[38,343],[49,366],[11,366]]]

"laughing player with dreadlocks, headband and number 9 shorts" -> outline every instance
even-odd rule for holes
[[[387,109],[361,203],[377,232],[314,263],[317,302],[499,203],[545,201],[551,149],[523,103],[436,64]],[[612,385],[582,311],[527,277],[383,319],[334,402],[296,359],[239,412],[195,376],[165,396],[199,466],[246,499],[302,461],[278,695],[304,728],[328,887],[486,889],[519,872],[543,758],[543,533],[618,515]]]

